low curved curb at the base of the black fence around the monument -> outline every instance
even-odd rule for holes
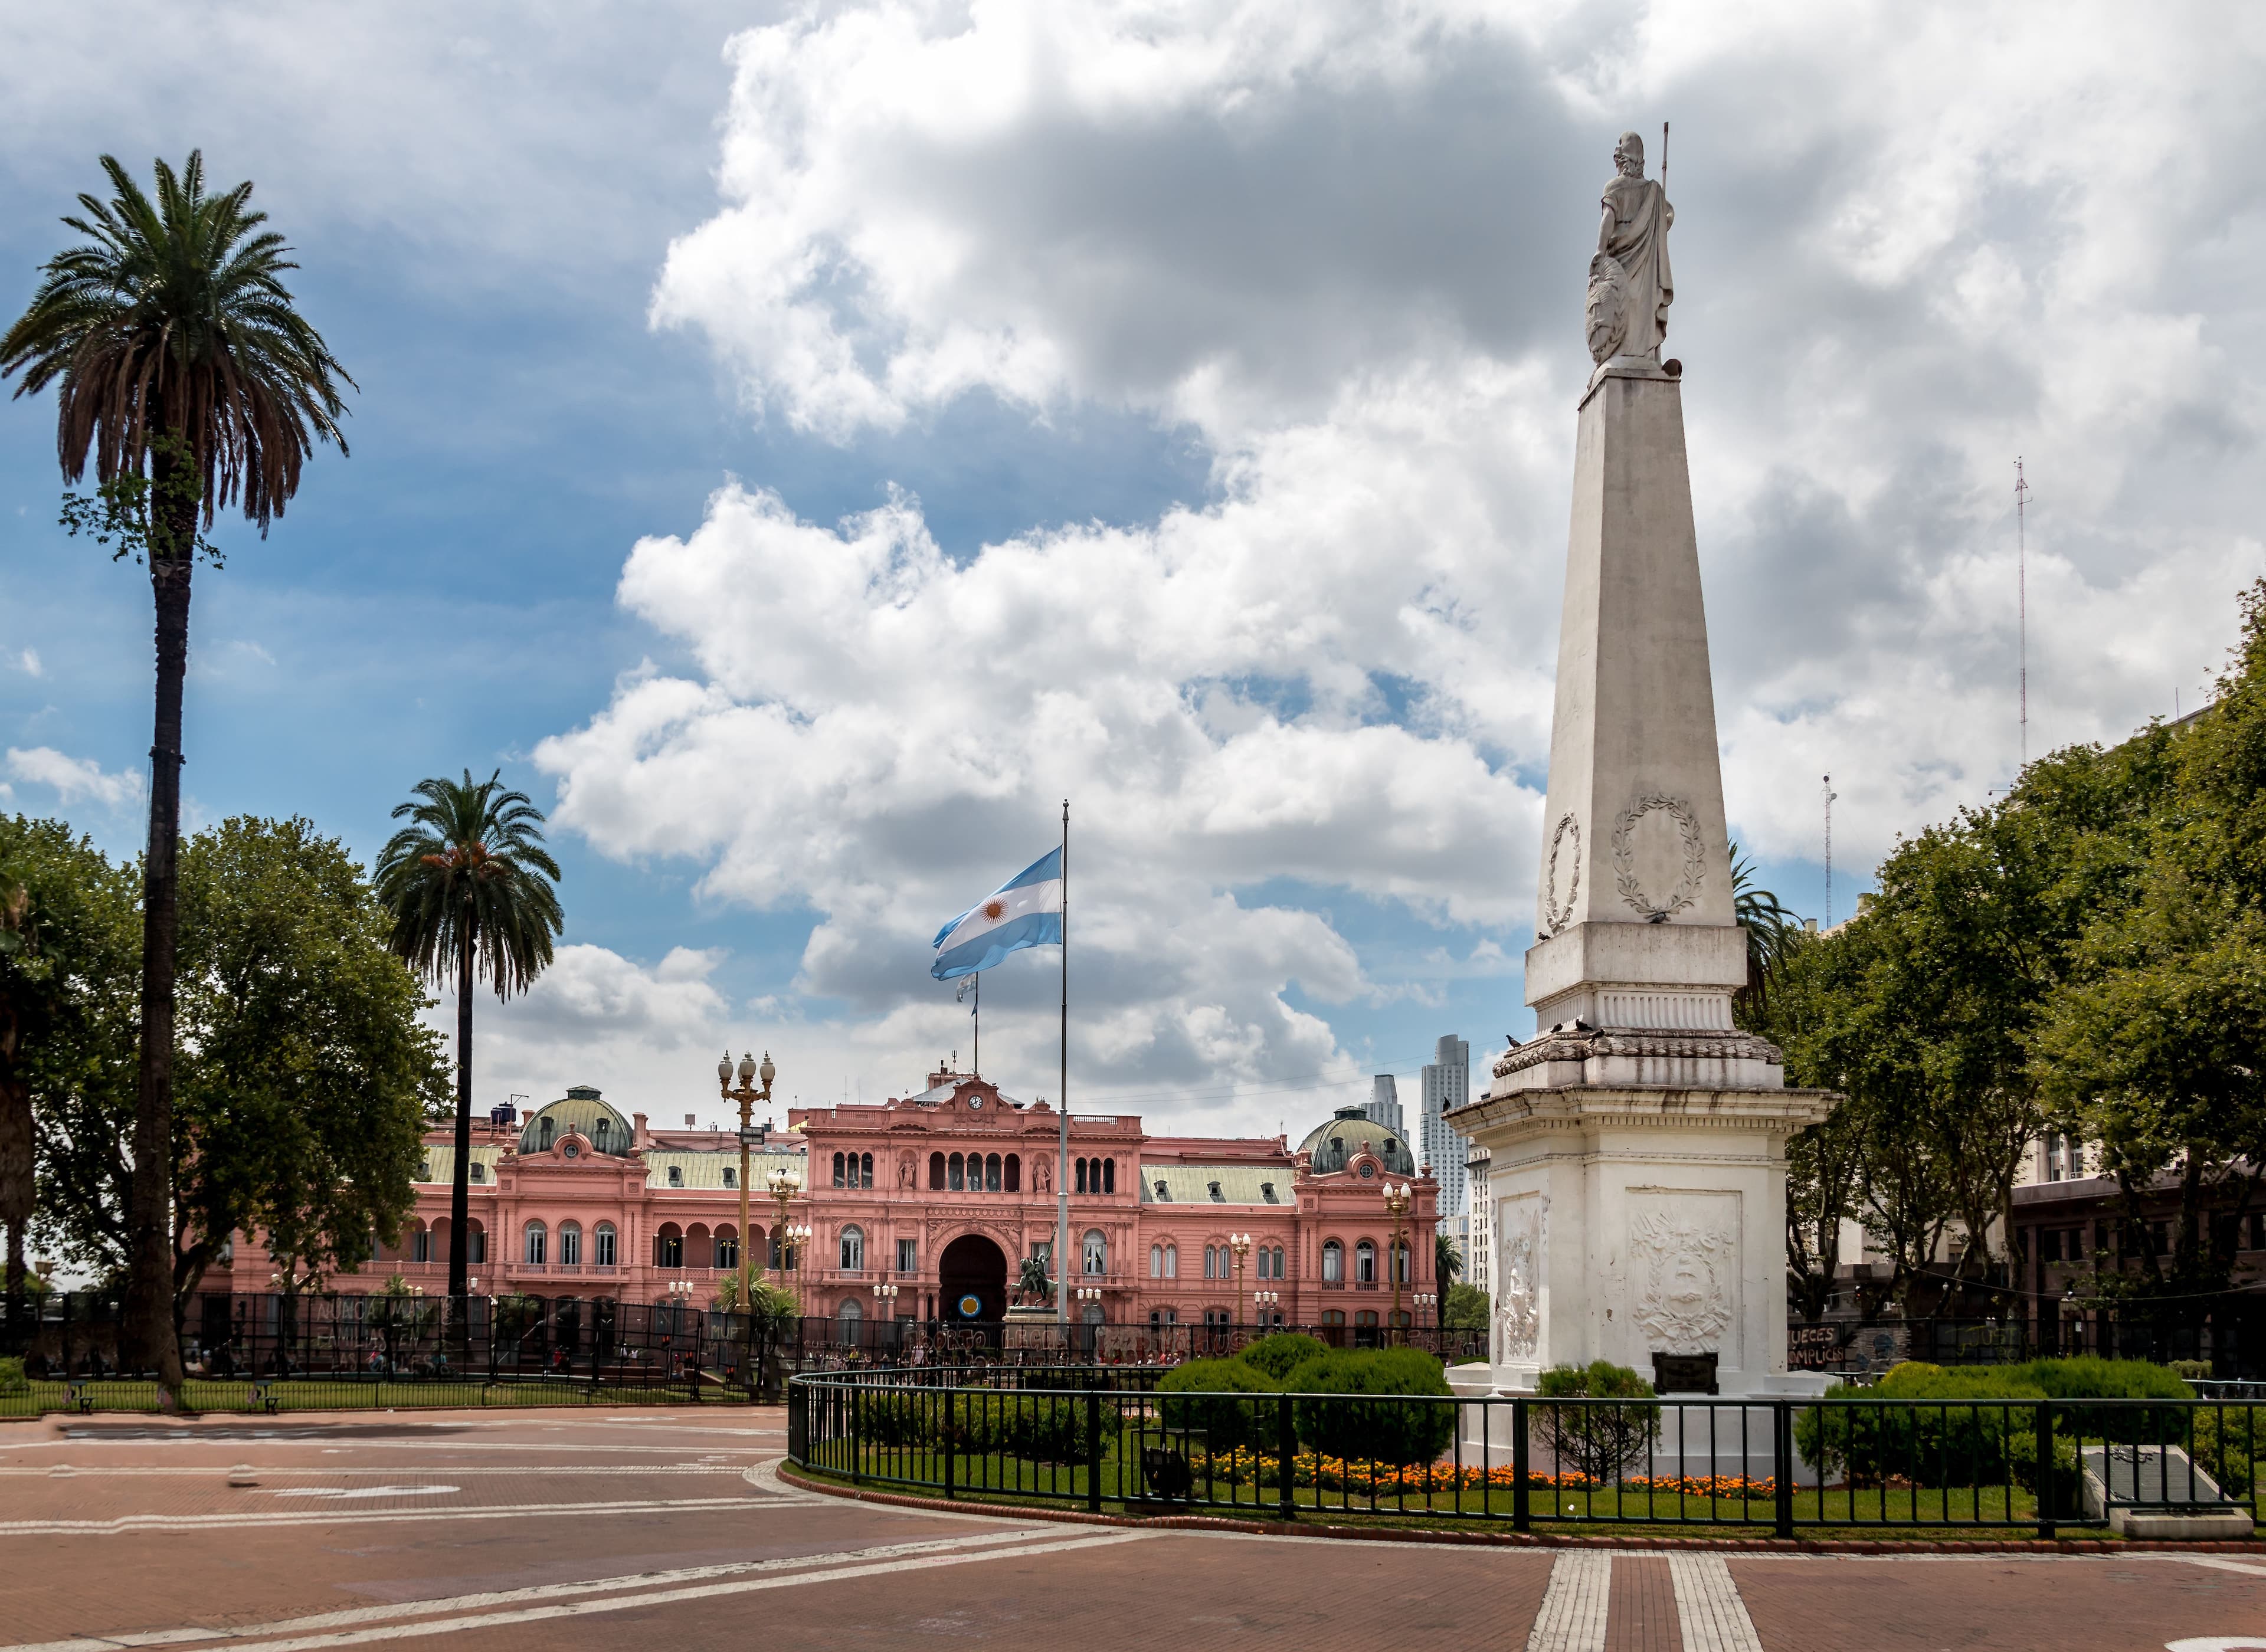
[[[1253,1536],[1335,1536],[1357,1543],[1450,1543],[1477,1548],[1620,1548],[1620,1550],[1709,1550],[1738,1555],[2266,1555],[2266,1541],[2250,1543],[2119,1543],[2098,1536],[2062,1536],[2042,1541],[2012,1539],[1838,1539],[1838,1536],[1561,1536],[1554,1532],[1425,1532],[1369,1525],[1323,1525],[1319,1521],[1230,1521],[1217,1514],[1088,1514],[1085,1509],[1047,1509],[1024,1502],[963,1502],[959,1498],[920,1498],[904,1491],[866,1491],[780,1464],[780,1480],[802,1491],[816,1491],[847,1502],[879,1502],[897,1509],[936,1509],[943,1514],[988,1514],[1002,1521],[1054,1521],[1058,1525],[1131,1525],[1174,1532],[1244,1532]]]

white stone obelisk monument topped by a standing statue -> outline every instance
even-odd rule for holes
[[[1616,163],[1591,265],[1598,369],[1575,442],[1527,952],[1541,1031],[1455,1113],[1491,1153],[1493,1385],[1611,1360],[1686,1389],[1713,1355],[1724,1396],[1808,1391],[1786,1373],[1786,1138],[1833,1097],[1788,1090],[1779,1051],[1731,1024],[1747,943],[1681,367],[1659,360],[1675,215],[1634,134]]]

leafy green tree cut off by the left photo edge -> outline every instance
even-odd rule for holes
[[[61,820],[0,816],[0,1219],[7,1314],[20,1321],[36,1210],[36,1110],[100,1092],[131,1115],[134,875]],[[116,1151],[116,1144],[111,1144]],[[122,1160],[120,1160],[122,1169]]]

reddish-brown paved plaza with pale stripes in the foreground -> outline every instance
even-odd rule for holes
[[[1063,1525],[807,1496],[775,1478],[784,1439],[777,1410],[9,1425],[0,1652],[2266,1650],[2266,1557],[1647,1555]]]

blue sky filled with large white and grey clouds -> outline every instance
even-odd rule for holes
[[[252,179],[358,381],[190,621],[188,825],[435,773],[566,931],[476,1099],[718,1117],[972,1056],[936,927],[1072,809],[1070,1099],[1289,1129],[1525,1036],[1582,297],[1670,122],[1731,834],[1833,916],[2028,752],[2193,709],[2266,571],[2266,18],[2116,5],[0,14],[0,304]],[[1654,154],[1654,170],[1659,154]],[[0,401],[0,809],[143,836],[150,594]],[[1060,1095],[1058,954],[983,1072]],[[446,999],[435,1024],[453,1027]]]

